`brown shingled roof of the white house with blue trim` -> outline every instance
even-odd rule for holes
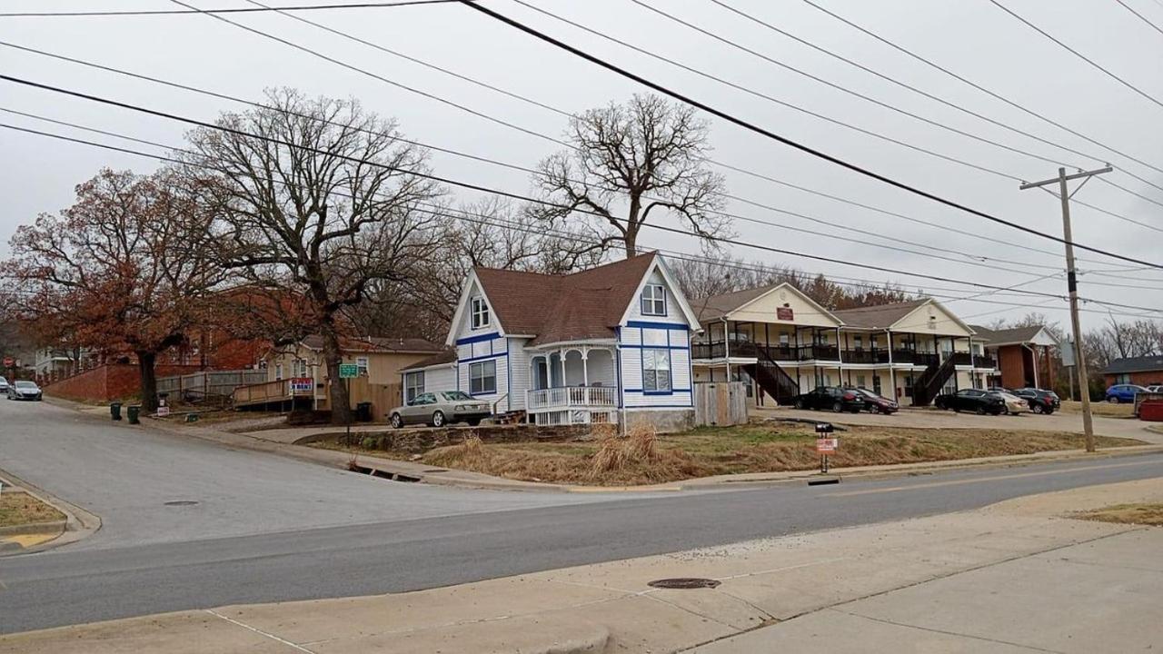
[[[654,253],[572,275],[541,275],[477,268],[477,278],[509,334],[530,334],[530,344],[613,339]]]

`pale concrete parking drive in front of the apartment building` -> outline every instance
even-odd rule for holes
[[[795,408],[756,408],[754,415],[764,418],[801,418],[826,420],[837,425],[872,425],[876,427],[923,427],[947,429],[1033,429],[1039,432],[1082,432],[1080,413],[1054,413],[1051,415],[977,415],[954,413],[936,408],[902,408],[892,415],[879,413],[832,413],[830,411],[799,411]],[[1105,436],[1121,436],[1163,445],[1163,434],[1147,428],[1151,422],[1129,418],[1094,417],[1094,433]]]

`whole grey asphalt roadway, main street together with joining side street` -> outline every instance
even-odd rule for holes
[[[833,486],[649,497],[492,493],[359,477],[76,420],[67,410],[51,406],[16,408],[28,413],[0,408],[0,468],[98,514],[112,513],[102,527],[106,533],[88,539],[92,542],[0,559],[2,633],[223,604],[418,590],[943,513],[1163,474],[1163,455],[1144,455]],[[14,425],[35,427],[36,433],[13,438]],[[127,432],[130,435],[122,436]],[[53,486],[49,482],[65,482],[62,474],[45,472],[28,458],[62,448],[72,455],[58,453],[52,462],[65,467],[65,476],[88,475],[87,482]],[[147,481],[115,479],[147,475],[165,456],[180,456],[183,463]],[[84,461],[70,463],[73,458]],[[119,467],[112,469],[113,463]],[[162,483],[164,492],[152,491],[152,483]],[[80,496],[69,495],[77,490]],[[214,507],[200,517],[197,505],[174,518],[170,507],[157,506],[170,497],[206,498]],[[144,535],[133,518],[135,509],[147,523],[164,520],[176,533]],[[258,525],[231,526],[231,519],[258,519],[265,510],[276,514]],[[186,523],[214,526],[222,535],[199,532],[191,540]]]

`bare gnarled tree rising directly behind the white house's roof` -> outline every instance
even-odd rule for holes
[[[571,118],[565,138],[572,148],[542,161],[534,184],[565,207],[540,207],[542,218],[568,219],[585,230],[575,251],[621,244],[634,256],[642,226],[664,212],[682,219],[705,246],[714,244],[709,236],[729,235],[729,219],[716,213],[723,179],[706,168],[707,123],[693,108],[634,95],[626,105]]]

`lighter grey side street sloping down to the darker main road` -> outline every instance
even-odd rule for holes
[[[390,482],[48,401],[0,401],[0,469],[101,518],[101,529],[69,550],[616,498]]]

